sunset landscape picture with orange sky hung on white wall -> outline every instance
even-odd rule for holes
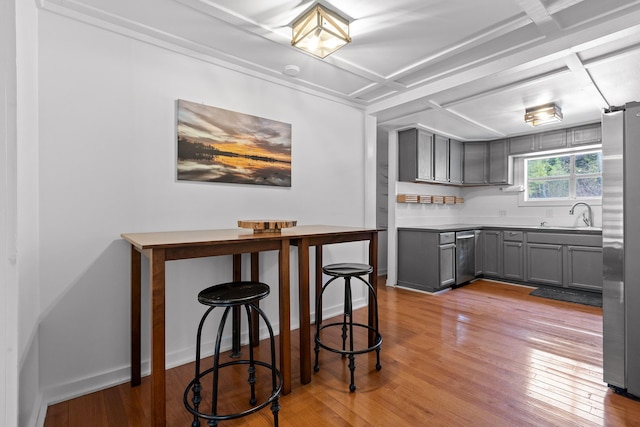
[[[178,100],[178,181],[291,187],[291,125]]]

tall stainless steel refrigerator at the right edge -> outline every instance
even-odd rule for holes
[[[640,102],[602,115],[604,381],[640,397]]]

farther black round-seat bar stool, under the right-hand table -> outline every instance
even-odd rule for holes
[[[356,263],[340,263],[340,264],[330,264],[322,267],[322,271],[332,276],[331,279],[327,281],[327,283],[322,286],[322,291],[320,295],[317,296],[316,299],[316,334],[315,334],[315,352],[316,352],[316,363],[313,367],[314,372],[318,372],[320,370],[320,365],[318,364],[318,355],[320,353],[320,347],[332,351],[334,353],[341,354],[343,357],[347,356],[349,358],[349,370],[351,371],[351,384],[349,384],[349,391],[353,392],[356,390],[356,385],[354,381],[354,373],[356,370],[356,362],[355,357],[356,354],[368,353],[371,351],[376,351],[376,370],[382,369],[380,365],[380,346],[382,345],[382,335],[380,335],[380,330],[378,329],[378,297],[376,295],[375,289],[371,286],[371,283],[364,280],[362,277],[366,274],[371,274],[373,272],[373,267],[367,264],[356,264]],[[329,285],[338,278],[344,278],[344,314],[342,316],[342,322],[334,322],[329,324],[322,324],[322,296],[324,295],[324,291],[327,290]],[[362,323],[354,323],[352,314],[352,295],[351,295],[351,278],[355,277],[363,282],[367,288],[369,289],[369,298],[373,298],[373,305],[375,309],[374,315],[374,326],[365,325]],[[371,302],[370,302],[371,304]],[[359,328],[361,330],[366,330],[367,336],[369,332],[373,332],[375,334],[375,339],[373,340],[373,345],[370,347],[364,348],[354,348],[354,327]],[[342,348],[335,348],[330,345],[327,345],[321,340],[321,332],[326,328],[341,328],[342,329]],[[349,338],[349,348],[347,349],[346,341]]]

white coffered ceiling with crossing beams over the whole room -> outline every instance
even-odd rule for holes
[[[353,39],[324,60],[290,45],[290,24],[313,1],[38,0],[48,11],[361,106],[385,129],[495,139],[531,132],[527,107],[556,102],[566,127],[640,101],[640,0],[322,3],[351,21]],[[298,76],[283,73],[289,64]]]

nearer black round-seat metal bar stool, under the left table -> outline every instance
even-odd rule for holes
[[[265,298],[269,295],[269,286],[260,282],[230,282],[223,283],[221,285],[211,286],[198,294],[198,301],[204,305],[209,306],[209,309],[204,313],[198,326],[198,334],[196,338],[196,372],[195,377],[189,383],[184,391],[184,406],[189,412],[193,414],[192,427],[198,427],[200,425],[200,418],[208,420],[210,426],[218,425],[219,421],[230,420],[234,418],[244,417],[271,404],[271,411],[273,412],[274,425],[278,425],[278,411],[280,410],[280,393],[282,391],[282,376],[276,369],[276,347],[273,339],[273,329],[271,323],[267,319],[264,312],[255,304],[257,301]],[[266,363],[259,360],[254,360],[253,357],[253,333],[252,328],[249,326],[249,359],[234,359],[230,362],[220,363],[220,344],[222,341],[222,333],[225,323],[232,311],[233,307],[244,306],[247,312],[247,320],[251,325],[251,314],[257,313],[262,320],[264,320],[269,330],[269,341],[271,344],[271,363]],[[220,320],[218,326],[218,334],[216,337],[215,350],[213,354],[213,367],[207,369],[204,372],[200,372],[200,345],[202,327],[209,314],[216,307],[225,307],[224,314]],[[218,377],[219,370],[233,365],[249,365],[249,386],[251,389],[251,397],[249,398],[249,404],[251,407],[245,411],[233,413],[233,414],[219,414],[218,413]],[[262,403],[258,404],[255,393],[256,383],[256,366],[262,366],[271,371],[271,394]],[[206,376],[213,375],[213,390],[211,392],[211,412],[205,413],[200,410],[200,403],[202,402],[202,385],[200,380]],[[193,391],[193,397],[191,403],[189,402],[189,392]]]

